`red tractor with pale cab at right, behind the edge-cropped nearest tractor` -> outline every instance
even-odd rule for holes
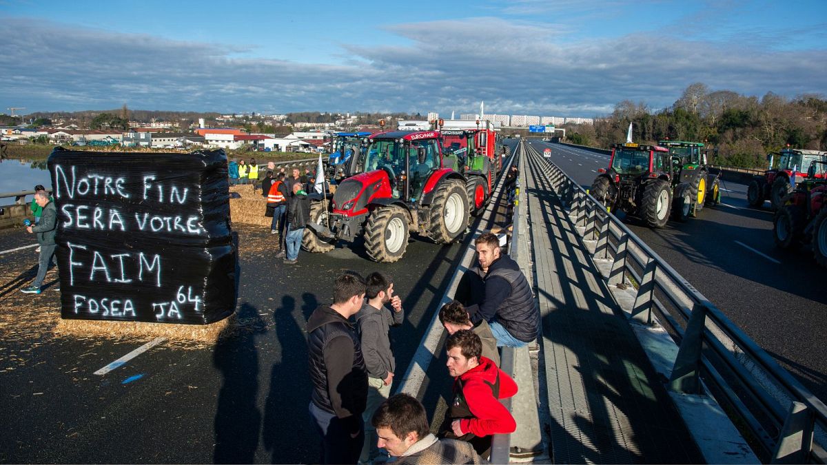
[[[777,210],[784,204],[784,197],[790,194],[792,183],[790,178],[796,172],[796,183],[805,180],[807,170],[813,161],[827,161],[827,152],[815,150],[784,149],[778,158],[778,166],[773,168],[772,162],[777,154],[769,154],[770,168],[761,176],[755,176],[747,189],[747,202],[753,208],[770,200],[770,206]]]

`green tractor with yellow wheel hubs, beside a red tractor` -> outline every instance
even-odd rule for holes
[[[672,187],[675,189],[675,197],[682,197],[683,192],[678,189],[686,189],[682,184],[689,185],[691,202],[681,202],[681,211],[673,212],[679,221],[686,221],[689,216],[697,217],[705,205],[720,204],[720,178],[719,175],[711,175],[706,165],[706,153],[703,151],[704,144],[700,142],[686,141],[659,141],[657,145],[667,147],[669,156],[672,157],[673,171]],[[689,208],[687,213],[685,210]]]

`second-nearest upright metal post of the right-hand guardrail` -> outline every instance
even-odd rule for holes
[[[706,306],[695,304],[686,330],[683,332],[681,347],[677,350],[669,389],[684,394],[700,394],[700,352],[704,346]]]

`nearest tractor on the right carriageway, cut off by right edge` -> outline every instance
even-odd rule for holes
[[[812,244],[815,261],[827,267],[827,161],[814,161],[807,179],[786,195],[772,222],[781,248]]]

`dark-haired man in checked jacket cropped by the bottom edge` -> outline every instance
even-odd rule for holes
[[[412,395],[397,394],[385,400],[371,423],[379,434],[377,446],[397,458],[394,463],[486,463],[471,444],[430,434],[425,408]]]

